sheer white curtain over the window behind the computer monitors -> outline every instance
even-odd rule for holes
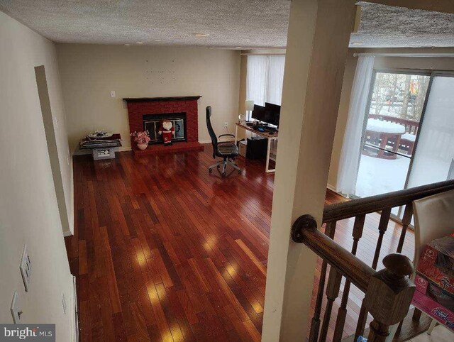
[[[249,55],[246,99],[264,106],[281,104],[285,56]]]

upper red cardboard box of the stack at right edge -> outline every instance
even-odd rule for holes
[[[454,234],[433,240],[423,248],[416,274],[454,294]]]

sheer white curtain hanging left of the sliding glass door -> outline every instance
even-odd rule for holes
[[[373,56],[358,57],[336,184],[336,190],[343,194],[355,194],[361,155],[362,129],[373,70]]]

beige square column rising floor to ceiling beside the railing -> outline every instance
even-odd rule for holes
[[[316,255],[290,238],[321,224],[355,0],[294,0],[279,122],[262,341],[304,341]]]

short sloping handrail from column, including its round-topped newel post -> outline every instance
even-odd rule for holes
[[[328,304],[321,327],[321,341],[326,341],[331,306],[338,296],[342,276],[365,293],[365,307],[374,318],[367,341],[385,341],[389,326],[398,324],[409,311],[415,289],[409,279],[414,270],[411,260],[399,253],[387,255],[383,259],[384,270],[376,272],[319,231],[315,219],[309,215],[301,216],[295,221],[292,238],[295,242],[304,243],[331,265],[326,289]],[[316,333],[311,332],[309,341],[316,341]]]

